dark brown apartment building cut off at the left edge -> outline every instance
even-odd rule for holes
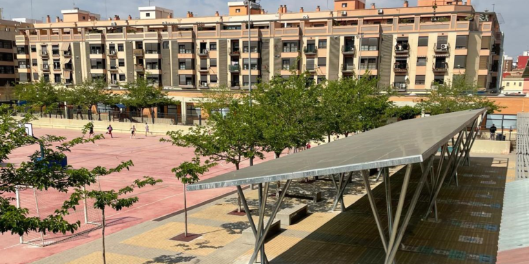
[[[0,101],[9,100],[12,87],[18,81],[17,45],[14,37],[19,28],[27,28],[26,23],[0,19]]]

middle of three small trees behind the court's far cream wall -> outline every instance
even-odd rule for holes
[[[79,83],[72,87],[63,89],[63,98],[66,102],[79,106],[79,109],[87,109],[88,120],[94,120],[92,118],[92,108],[97,104],[111,104],[119,100],[118,94],[113,94],[112,91],[108,90],[107,83],[101,78],[92,80],[85,80],[83,83]],[[99,109],[96,109],[99,113]],[[81,117],[82,117],[81,113]],[[99,118],[101,120],[101,117]]]

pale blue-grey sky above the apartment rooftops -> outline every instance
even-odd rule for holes
[[[175,17],[185,17],[187,11],[198,16],[208,16],[219,11],[220,14],[227,13],[228,0],[155,0],[152,5],[174,10]],[[366,0],[367,5],[376,3],[383,8],[402,6],[403,0]],[[3,18],[12,19],[14,17],[31,18],[31,0],[2,0],[0,8],[3,8]],[[61,17],[61,9],[69,9],[74,5],[83,10],[101,14],[101,17],[113,17],[118,14],[122,19],[127,15],[138,17],[138,7],[149,5],[148,0],[33,0],[33,17],[42,19],[46,15]],[[287,8],[297,11],[301,6],[305,10],[314,10],[316,5],[320,5],[322,10],[332,9],[333,0],[261,0],[261,5],[270,13],[277,12],[280,4],[286,4]],[[415,5],[417,0],[410,0],[410,5]],[[527,10],[529,10],[529,0],[473,0],[473,5],[478,11],[485,9],[502,14],[505,23],[501,25],[501,30],[506,32],[506,54],[518,56],[524,50],[529,50],[529,23],[526,21]]]

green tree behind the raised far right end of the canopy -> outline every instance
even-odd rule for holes
[[[477,84],[467,80],[466,76],[455,76],[453,82],[439,84],[417,108],[429,111],[432,115],[488,108],[488,113],[501,111],[503,107],[485,96],[477,94]]]

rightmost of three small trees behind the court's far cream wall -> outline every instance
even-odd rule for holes
[[[127,106],[140,110],[141,122],[143,122],[143,109],[149,109],[154,123],[154,107],[178,103],[167,96],[167,91],[163,91],[163,87],[154,86],[145,77],[138,77],[133,83],[123,85],[123,89],[125,89],[123,100]]]

